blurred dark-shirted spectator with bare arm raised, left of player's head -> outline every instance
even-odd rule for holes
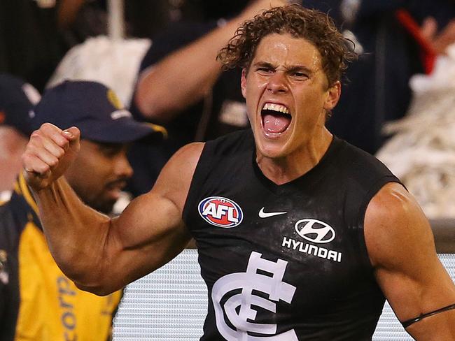
[[[202,10],[199,21],[176,22],[153,38],[131,110],[139,120],[164,125],[168,138],[153,147],[135,143],[130,150],[135,173],[129,189],[134,195],[151,189],[162,166],[182,145],[248,126],[240,71],[222,73],[216,55],[244,20],[286,1],[255,0],[245,7],[246,2],[194,0]]]

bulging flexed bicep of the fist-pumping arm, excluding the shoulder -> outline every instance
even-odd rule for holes
[[[150,192],[137,198],[124,214],[112,222],[108,245],[118,250],[113,262],[130,268],[125,282],[150,273],[174,258],[190,240],[179,208],[168,198]],[[125,283],[125,284],[126,284]]]

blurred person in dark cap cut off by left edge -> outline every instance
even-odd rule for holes
[[[0,202],[8,200],[31,133],[29,113],[41,95],[32,85],[0,74]]]

